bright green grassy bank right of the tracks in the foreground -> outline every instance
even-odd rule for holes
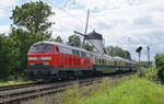
[[[163,104],[164,86],[137,76],[116,81],[105,80],[83,89],[71,89],[62,94],[63,104]]]

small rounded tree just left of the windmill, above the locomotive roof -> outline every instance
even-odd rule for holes
[[[68,45],[80,47],[81,46],[81,39],[78,35],[71,35],[69,36]]]

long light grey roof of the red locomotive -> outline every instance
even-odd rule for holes
[[[81,51],[85,51],[85,53],[91,53],[91,51],[87,51],[83,48],[78,48],[78,47],[73,47],[73,46],[69,46],[69,45],[61,44],[61,43],[56,43],[56,42],[37,42],[34,45],[39,45],[39,44],[57,45],[57,46],[62,46],[62,47],[70,48],[70,49],[77,49],[77,50],[81,50]]]

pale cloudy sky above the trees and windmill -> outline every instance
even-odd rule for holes
[[[37,0],[3,0],[0,2],[0,33],[8,34],[15,5]],[[120,46],[137,59],[136,48],[142,46],[142,60],[164,53],[164,0],[43,0],[51,5],[56,22],[50,28],[66,42],[73,31],[84,33],[87,9],[91,10],[87,33],[95,30],[105,38],[105,46]],[[67,4],[66,4],[67,2]]]

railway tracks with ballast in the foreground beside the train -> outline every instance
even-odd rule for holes
[[[95,77],[86,78],[81,80],[56,82],[56,83],[28,83],[20,85],[10,85],[0,88],[0,104],[2,103],[12,103],[17,104],[21,101],[27,101],[43,95],[48,95],[57,92],[62,92],[72,86],[73,83],[78,83],[80,86],[90,85],[95,82],[101,83],[104,78],[121,78],[124,76],[129,76],[129,73],[121,74],[109,74],[106,77]],[[3,89],[3,91],[2,91]]]

